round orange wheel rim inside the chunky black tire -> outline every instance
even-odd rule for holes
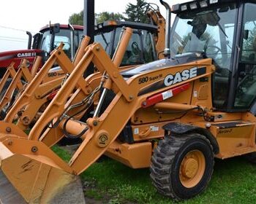
[[[184,187],[195,187],[206,170],[206,159],[202,152],[193,150],[183,158],[179,170],[179,178]]]

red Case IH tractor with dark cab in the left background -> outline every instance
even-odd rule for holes
[[[29,35],[27,50],[0,52],[0,79],[4,76],[7,66],[12,62],[15,62],[15,69],[18,69],[20,61],[26,58],[29,60],[29,68],[31,68],[34,58],[40,55],[43,64],[48,59],[50,52],[61,42],[64,42],[64,51],[69,58],[74,58],[80,37],[83,35],[83,26],[60,25],[59,23],[45,26],[33,36],[33,43],[31,33],[27,32],[27,34]]]

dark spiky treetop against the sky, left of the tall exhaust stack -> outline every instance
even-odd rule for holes
[[[125,20],[140,23],[149,23],[149,19],[146,15],[148,10],[148,4],[145,0],[137,0],[136,4],[127,4],[124,14],[127,15]]]

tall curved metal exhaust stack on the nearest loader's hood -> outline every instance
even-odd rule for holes
[[[166,23],[165,23],[165,58],[170,58],[170,6],[165,1],[160,0],[160,3],[166,9]]]

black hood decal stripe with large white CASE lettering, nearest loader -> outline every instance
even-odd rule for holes
[[[184,81],[187,81],[188,79],[192,79],[192,78],[195,78],[196,76],[200,76],[203,74],[206,74],[206,67],[200,67],[200,68],[192,67],[192,68],[184,69],[183,71],[178,71],[175,74],[167,74],[165,76],[165,79],[154,82],[150,86],[144,88],[143,90],[140,90],[140,93],[138,93],[138,95],[150,93],[154,90],[159,90],[163,87],[169,87],[171,85],[177,84],[178,82],[184,82]],[[162,76],[162,74],[159,74],[159,76]],[[162,77],[159,77],[158,79],[161,79],[161,78]]]

